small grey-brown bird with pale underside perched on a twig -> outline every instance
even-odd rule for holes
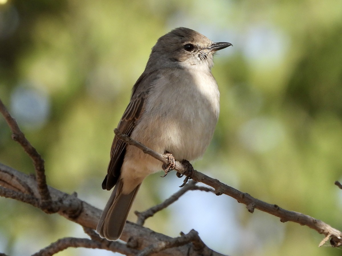
[[[192,161],[203,156],[220,112],[220,91],[211,68],[213,55],[231,43],[214,43],[184,27],[157,40],[144,72],[132,88],[118,130],[160,153]],[[114,137],[102,188],[113,189],[96,231],[118,240],[142,181],[161,162]]]

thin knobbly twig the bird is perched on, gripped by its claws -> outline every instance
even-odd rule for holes
[[[137,142],[133,140],[132,138],[128,137],[127,135],[120,133],[118,129],[115,129],[114,132],[116,136],[118,136],[118,138],[123,140],[124,142],[140,148],[144,153],[162,161],[163,163],[167,163],[166,156],[163,156],[157,152],[154,152],[153,150],[149,149],[148,147],[141,144],[140,142]],[[184,173],[186,171],[186,168],[179,161],[176,161],[175,170],[181,174],[186,175],[186,173]],[[215,189],[216,195],[225,194],[236,199],[239,203],[246,204],[248,211],[251,213],[254,212],[254,209],[258,209],[260,211],[267,212],[269,214],[279,217],[281,222],[291,221],[291,222],[299,223],[300,225],[308,226],[316,230],[318,233],[324,234],[326,237],[330,236],[331,237],[330,244],[333,247],[339,247],[342,245],[342,232],[337,229],[332,228],[331,226],[324,223],[323,221],[320,221],[318,219],[315,219],[311,216],[308,216],[299,212],[288,211],[288,210],[282,209],[276,204],[269,204],[269,203],[263,202],[259,199],[252,197],[251,195],[247,193],[243,193],[233,187],[230,187],[220,182],[219,180],[213,179],[196,170],[192,171],[191,178],[194,181],[202,182],[204,184],[207,184],[208,186],[213,187]]]

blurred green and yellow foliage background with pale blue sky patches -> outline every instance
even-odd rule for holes
[[[43,156],[49,185],[104,207],[113,129],[150,49],[180,26],[234,45],[214,57],[220,119],[194,168],[341,230],[334,185],[342,178],[341,0],[0,0],[0,98]],[[34,172],[1,117],[0,162]],[[144,181],[129,220],[183,182],[161,174]],[[30,255],[62,237],[87,237],[63,217],[15,200],[0,198],[0,209],[2,253]],[[324,237],[308,227],[199,191],[146,226],[173,237],[193,228],[234,256],[341,255],[329,243],[318,248]],[[57,255],[113,254],[70,248]]]

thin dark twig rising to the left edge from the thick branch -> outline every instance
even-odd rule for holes
[[[39,195],[41,197],[40,208],[44,211],[51,211],[51,209],[49,209],[49,206],[51,205],[51,196],[46,183],[44,160],[37,152],[36,148],[34,148],[31,143],[25,138],[25,135],[20,130],[16,120],[11,116],[5,105],[2,103],[1,99],[0,112],[4,116],[7,124],[12,131],[12,139],[18,142],[24,148],[25,152],[29,155],[34,163],[37,186]]]

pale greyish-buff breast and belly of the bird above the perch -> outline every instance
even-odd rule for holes
[[[211,141],[219,101],[219,89],[210,71],[162,74],[150,90],[142,116],[149,122],[137,124],[134,133],[147,146],[169,151],[177,160],[194,160],[204,154]]]

